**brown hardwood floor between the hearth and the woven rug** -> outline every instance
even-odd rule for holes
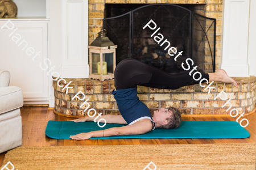
[[[48,107],[22,107],[22,146],[72,146],[72,145],[159,145],[159,144],[201,144],[201,143],[255,143],[256,114],[244,116],[249,121],[245,128],[250,133],[245,139],[88,139],[74,141],[72,139],[52,139],[44,133],[49,120],[68,121],[73,118],[56,116]],[[241,119],[241,118],[240,118]],[[226,117],[182,117],[183,121],[236,121]],[[0,167],[6,152],[0,154]]]

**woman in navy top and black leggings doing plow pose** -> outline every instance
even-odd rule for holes
[[[238,83],[222,69],[216,71],[216,73],[202,73],[200,80],[195,80],[199,79],[199,74],[195,74],[195,79],[192,75],[193,73],[190,75],[187,72],[171,75],[137,59],[123,59],[115,68],[115,89],[112,91],[121,115],[104,115],[98,117],[96,121],[104,118],[107,123],[128,124],[128,126],[80,133],[71,135],[70,138],[82,140],[91,137],[137,135],[148,133],[155,128],[174,129],[179,127],[181,122],[180,111],[174,107],[160,108],[154,111],[153,116],[151,116],[150,110],[137,96],[137,85],[175,90],[183,86],[199,84],[201,79],[207,79],[208,82],[232,83],[238,87]],[[207,81],[203,80],[202,82]],[[93,120],[94,117],[86,116],[71,121],[85,122]]]

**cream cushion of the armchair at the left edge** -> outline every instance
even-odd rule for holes
[[[0,87],[0,106],[0,114],[22,107],[22,88],[16,86]]]

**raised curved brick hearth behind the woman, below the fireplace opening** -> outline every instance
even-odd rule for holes
[[[229,83],[214,82],[214,88],[210,94],[208,90],[199,84],[192,86],[181,87],[177,90],[166,90],[158,88],[149,88],[138,86],[138,97],[144,104],[150,108],[151,111],[161,107],[168,108],[170,106],[179,108],[182,114],[229,114],[226,109],[229,105],[222,108],[225,101],[214,100],[219,92],[222,90],[228,95],[232,108],[238,109],[239,113],[248,113],[253,111],[256,94],[256,77],[250,78],[234,78],[240,84],[239,88],[234,87]],[[96,109],[97,113],[103,114],[120,114],[113,95],[114,79],[112,80],[93,80],[93,79],[65,79],[70,88],[68,94],[65,90],[62,91],[57,86],[57,80],[53,81],[53,88],[55,89],[55,111],[61,114],[68,114],[74,116],[85,116],[85,104],[80,108],[80,105],[89,98],[88,103],[90,108]],[[207,85],[207,83],[203,83]],[[60,85],[67,85],[60,82]],[[63,87],[64,87],[63,86]],[[206,86],[205,86],[206,87]],[[83,101],[75,98],[71,100],[77,92],[82,91],[86,98]],[[80,95],[82,98],[82,95]],[[220,98],[218,98],[220,99]],[[228,100],[226,100],[228,101]],[[230,111],[230,110],[229,110]]]

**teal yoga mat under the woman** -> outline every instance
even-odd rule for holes
[[[104,125],[100,123],[100,125]],[[73,121],[49,121],[46,127],[46,135],[54,139],[70,139],[70,135],[86,133],[94,130],[104,130],[113,127],[127,126],[125,124],[106,124],[100,128],[94,122]],[[182,121],[177,129],[155,129],[146,134],[113,136],[113,137],[92,137],[90,139],[171,139],[171,138],[248,138],[249,132],[234,121]]]

